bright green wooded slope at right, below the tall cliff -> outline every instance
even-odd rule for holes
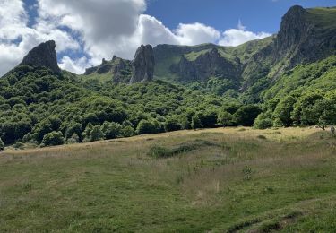
[[[336,56],[307,65],[297,65],[263,91],[263,115],[255,127],[265,125],[336,124]],[[262,121],[262,122],[261,122]]]

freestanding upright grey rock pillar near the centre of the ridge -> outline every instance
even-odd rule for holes
[[[154,53],[151,45],[139,47],[132,61],[133,74],[130,83],[151,81],[154,74],[154,65]]]

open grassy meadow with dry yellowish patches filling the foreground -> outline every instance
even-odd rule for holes
[[[0,154],[0,232],[334,232],[336,139],[180,131]]]

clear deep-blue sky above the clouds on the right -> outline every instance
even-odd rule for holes
[[[175,29],[180,22],[202,22],[228,30],[240,19],[248,30],[276,33],[289,7],[336,6],[335,0],[150,0],[146,13]]]

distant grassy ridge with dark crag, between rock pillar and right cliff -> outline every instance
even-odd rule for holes
[[[272,37],[249,41],[238,47],[159,45],[154,47],[155,76],[184,83],[204,82],[211,76],[240,81],[242,67],[271,40]]]

